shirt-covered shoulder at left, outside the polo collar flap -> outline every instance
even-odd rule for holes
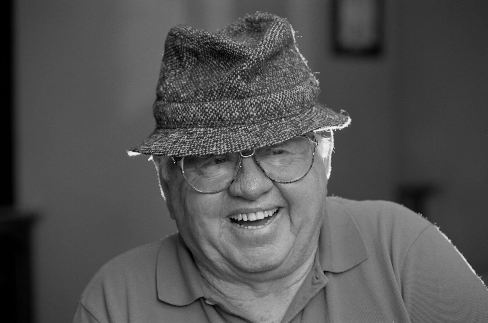
[[[81,294],[77,317],[88,316],[96,322],[129,322],[134,316],[138,319],[131,322],[155,322],[154,310],[159,308],[166,313],[169,306],[155,297],[158,262],[160,258],[166,262],[166,256],[177,253],[179,239],[176,233],[106,262]]]

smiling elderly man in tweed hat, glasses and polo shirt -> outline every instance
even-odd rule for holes
[[[178,233],[108,262],[74,322],[488,322],[488,291],[438,229],[326,197],[348,116],[287,20],[169,32],[152,156]]]

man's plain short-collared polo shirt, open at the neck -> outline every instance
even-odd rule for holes
[[[73,322],[251,322],[222,303],[176,233],[105,264]],[[282,322],[486,323],[488,290],[420,215],[328,197],[315,262]]]

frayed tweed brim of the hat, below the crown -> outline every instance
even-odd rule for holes
[[[342,129],[350,121],[348,115],[316,104],[283,119],[221,127],[156,129],[129,153],[180,157],[224,154],[272,145],[311,131]]]

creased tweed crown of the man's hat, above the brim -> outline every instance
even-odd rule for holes
[[[297,114],[317,94],[288,21],[256,13],[217,33],[173,27],[154,114],[161,127],[243,124]]]

